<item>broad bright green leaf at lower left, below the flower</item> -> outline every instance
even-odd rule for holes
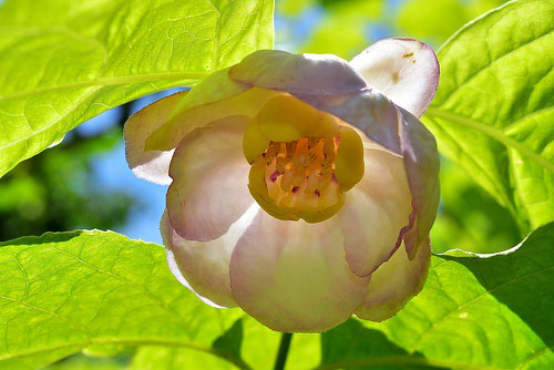
[[[247,368],[222,337],[242,315],[196,298],[154,244],[98,230],[0,244],[2,369],[34,369],[90,346],[170,346]]]

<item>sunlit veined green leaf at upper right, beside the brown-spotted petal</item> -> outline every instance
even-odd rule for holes
[[[465,25],[438,53],[423,119],[522,232],[554,220],[553,29],[552,0],[509,2]]]

